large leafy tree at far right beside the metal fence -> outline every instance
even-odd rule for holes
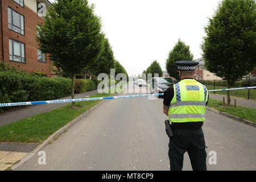
[[[205,27],[207,36],[201,45],[205,67],[226,80],[228,88],[256,65],[255,10],[254,0],[224,0]]]

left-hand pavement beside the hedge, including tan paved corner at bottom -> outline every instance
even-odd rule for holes
[[[79,93],[75,94],[75,98],[83,98],[86,96],[91,96],[96,93],[98,93],[97,90]],[[57,98],[56,100],[67,98],[71,98],[71,96]],[[18,121],[19,119],[31,117],[32,115],[50,111],[65,104],[67,103],[28,105],[6,111],[5,113],[0,114],[0,126]],[[39,146],[38,143],[0,143],[0,171],[8,169],[9,167],[13,166],[14,163],[24,158],[24,156],[26,156],[29,152],[33,151],[37,146]]]

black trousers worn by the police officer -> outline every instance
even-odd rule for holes
[[[170,138],[169,159],[171,171],[181,171],[183,168],[183,156],[188,152],[193,171],[206,171],[205,140],[203,130],[179,130],[173,131]]]

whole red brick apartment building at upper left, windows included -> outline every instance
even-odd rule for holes
[[[48,0],[0,0],[0,61],[52,77],[51,63],[36,43],[36,27],[44,22],[42,5],[46,12],[51,7]]]

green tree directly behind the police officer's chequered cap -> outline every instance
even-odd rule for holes
[[[176,80],[179,80],[179,74],[175,62],[181,60],[193,60],[193,55],[189,50],[189,46],[179,39],[174,48],[169,52],[168,59],[166,60],[166,70]]]

